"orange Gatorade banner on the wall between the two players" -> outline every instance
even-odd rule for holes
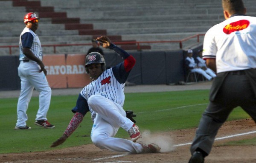
[[[79,88],[90,83],[85,73],[85,54],[44,55],[47,80],[51,88]]]

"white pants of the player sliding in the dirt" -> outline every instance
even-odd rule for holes
[[[143,151],[139,143],[113,138],[120,126],[128,131],[134,124],[126,118],[125,110],[119,104],[103,96],[93,95],[88,99],[88,105],[96,112],[91,131],[91,139],[95,146],[114,152],[140,153]]]

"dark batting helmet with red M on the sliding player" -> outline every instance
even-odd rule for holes
[[[106,62],[104,57],[98,52],[91,52],[87,54],[85,58],[85,71],[89,73],[88,65],[93,63],[100,63],[102,65],[102,71],[106,70]]]

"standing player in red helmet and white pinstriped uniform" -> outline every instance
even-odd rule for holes
[[[20,97],[17,104],[17,123],[15,129],[31,129],[26,125],[29,101],[33,89],[39,92],[39,109],[35,118],[35,124],[44,128],[54,128],[47,121],[46,115],[49,110],[52,90],[46,79],[47,70],[42,62],[41,42],[35,34],[38,29],[38,20],[35,13],[28,13],[24,17],[26,27],[20,34],[20,65],[18,73],[20,76]]]

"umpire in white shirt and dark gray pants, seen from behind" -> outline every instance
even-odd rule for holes
[[[240,106],[256,122],[256,17],[246,16],[242,0],[222,0],[225,21],[204,37],[203,59],[217,71],[190,148],[189,163],[204,163],[218,129]]]

